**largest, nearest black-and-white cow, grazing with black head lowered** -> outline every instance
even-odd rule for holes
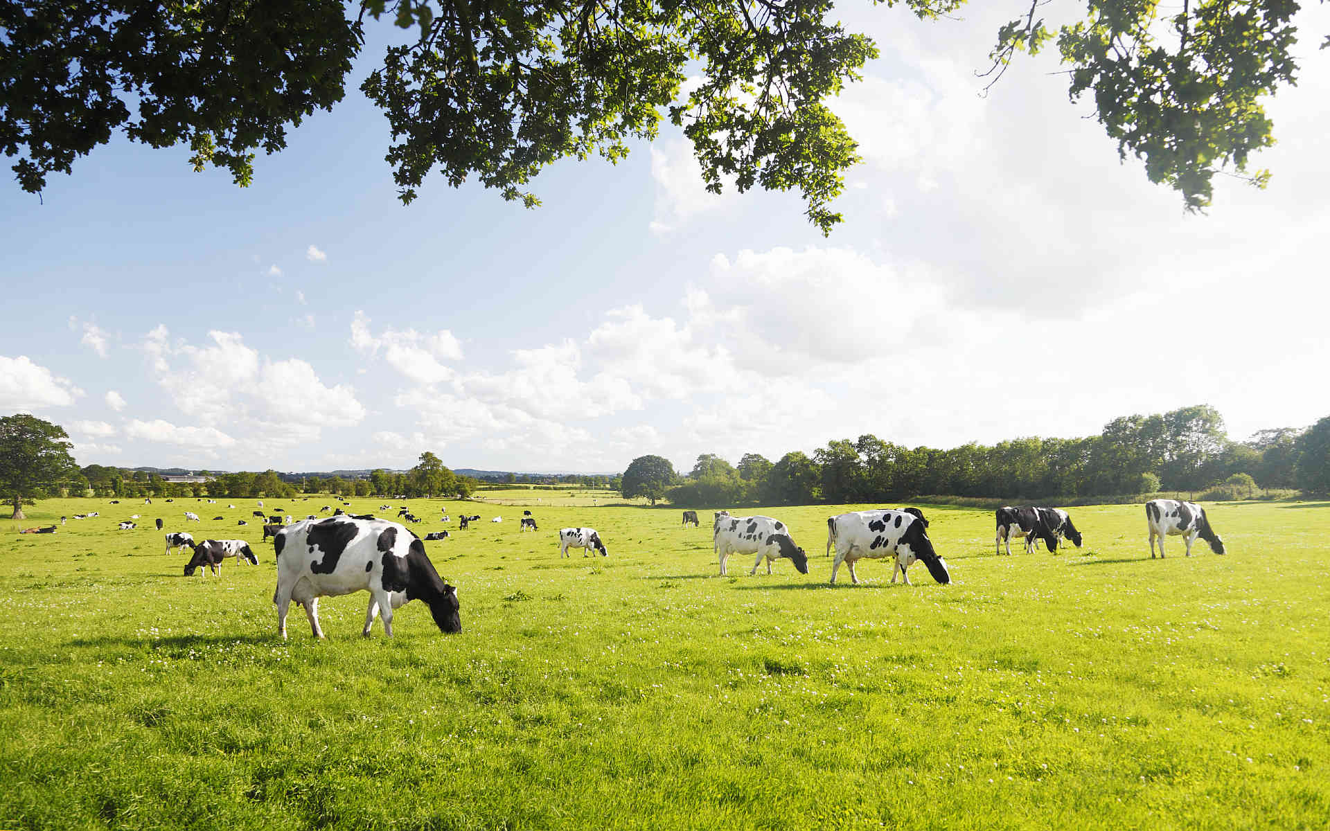
[[[314,637],[322,638],[318,602],[322,596],[368,592],[370,608],[360,634],[368,637],[383,614],[383,632],[392,637],[392,610],[422,600],[442,632],[462,632],[458,590],[439,577],[424,542],[388,520],[329,517],[302,521],[277,534],[277,628],[286,638],[291,601],[305,606]],[[285,556],[283,556],[285,552]]]

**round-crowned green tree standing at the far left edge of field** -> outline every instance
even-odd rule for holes
[[[24,520],[24,505],[45,489],[78,475],[63,427],[16,414],[0,417],[0,496],[13,507],[11,519]]]

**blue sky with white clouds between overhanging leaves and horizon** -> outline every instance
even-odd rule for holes
[[[536,210],[440,178],[403,207],[356,90],[372,39],[247,189],[120,140],[43,202],[11,183],[0,412],[64,425],[81,464],[568,471],[1202,402],[1236,437],[1330,415],[1307,382],[1330,360],[1330,9],[1302,12],[1299,85],[1270,102],[1270,187],[1221,181],[1197,217],[1119,164],[1052,53],[976,94],[1009,16],[979,5],[842,9],[882,57],[833,104],[864,162],[830,238],[795,195],[706,194],[672,129],[556,165]]]

